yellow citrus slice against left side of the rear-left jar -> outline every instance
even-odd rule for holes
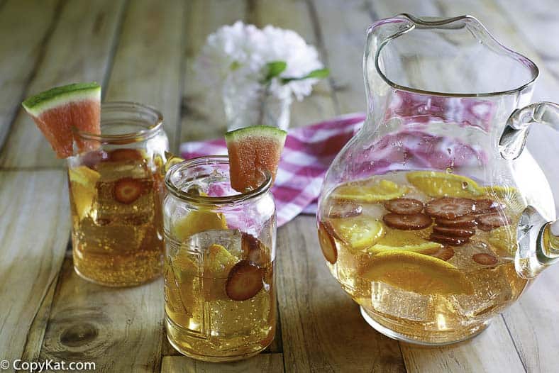
[[[70,193],[72,193],[72,199],[80,220],[92,211],[93,202],[97,196],[96,183],[100,178],[99,172],[86,166],[68,169]]]

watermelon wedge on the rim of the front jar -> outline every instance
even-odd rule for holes
[[[280,163],[287,132],[270,126],[250,126],[226,133],[231,187],[245,192],[262,184],[265,172],[272,182]]]

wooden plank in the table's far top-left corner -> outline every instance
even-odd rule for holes
[[[0,11],[0,147],[19,110],[35,67],[45,53],[57,21],[59,0],[29,1],[23,9],[19,1],[6,1]]]

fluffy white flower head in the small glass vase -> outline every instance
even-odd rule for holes
[[[286,62],[286,68],[278,77],[263,83],[267,64],[277,61]],[[267,90],[273,96],[290,99],[294,95],[299,101],[311,94],[319,79],[282,79],[302,78],[322,68],[316,49],[294,31],[273,26],[260,30],[241,21],[209,35],[196,65],[199,76],[217,89],[236,84],[239,91],[258,90],[269,83]]]

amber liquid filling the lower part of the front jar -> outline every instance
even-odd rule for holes
[[[171,240],[167,245],[173,245]],[[275,262],[262,267],[264,286],[255,296],[235,301],[226,293],[227,274],[211,277],[199,265],[204,262],[204,247],[191,255],[197,249],[174,246],[170,251],[175,254],[167,257],[163,272],[165,326],[173,347],[197,360],[226,362],[256,355],[270,345],[276,320]],[[230,252],[236,261],[243,259],[242,253]],[[192,262],[177,265],[179,255]]]

